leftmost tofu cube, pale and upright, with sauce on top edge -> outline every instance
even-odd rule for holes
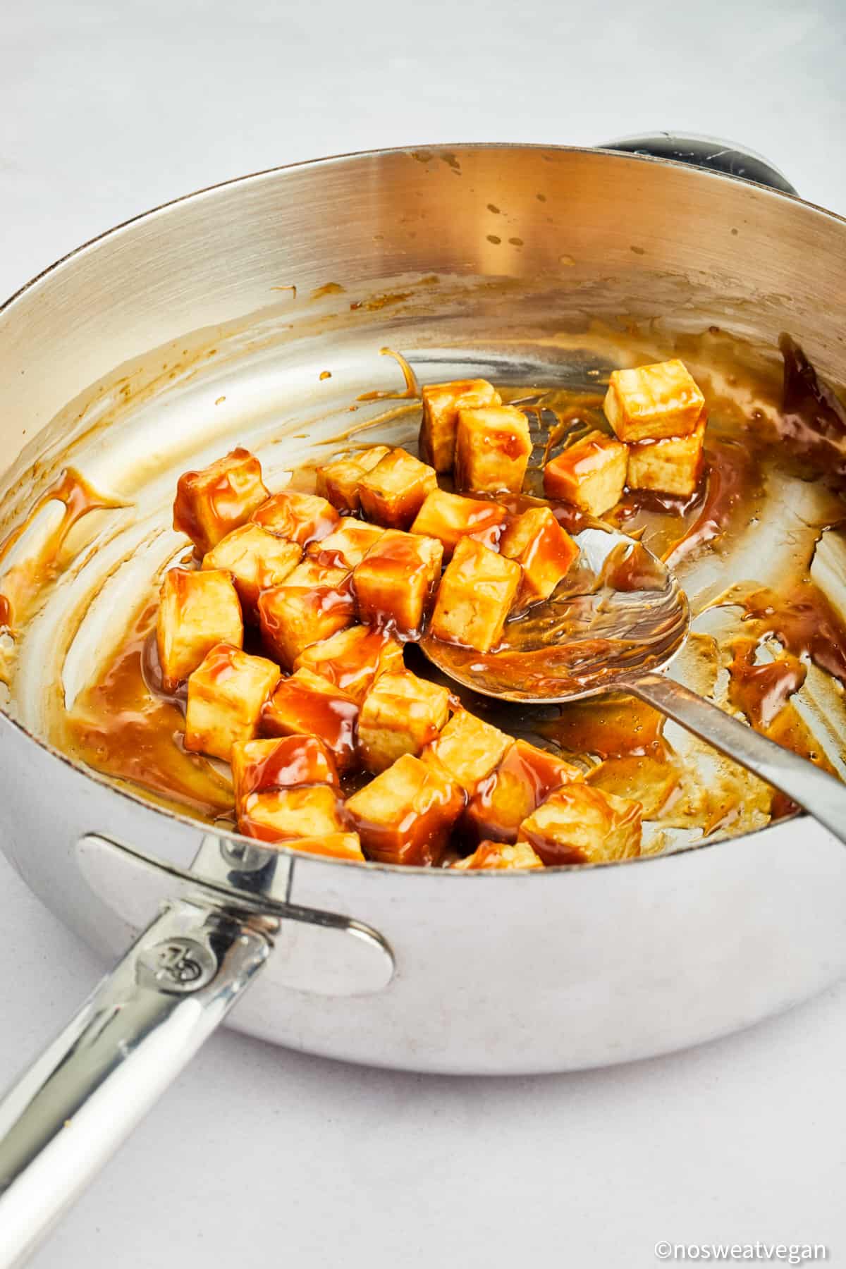
[[[170,569],[161,584],[156,642],[165,692],[175,692],[216,643],[241,647],[241,604],[228,572]]]

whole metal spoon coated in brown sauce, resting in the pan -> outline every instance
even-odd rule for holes
[[[623,533],[583,529],[580,558],[549,599],[509,621],[496,652],[421,648],[448,678],[502,700],[552,704],[628,692],[760,775],[846,844],[846,787],[658,671],[690,628],[670,570]]]

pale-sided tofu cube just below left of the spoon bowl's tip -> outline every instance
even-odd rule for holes
[[[359,749],[369,772],[383,772],[403,754],[419,754],[449,717],[449,692],[427,679],[381,675],[359,713]]]

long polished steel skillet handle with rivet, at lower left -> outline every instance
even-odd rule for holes
[[[79,1197],[269,952],[261,917],[164,906],[0,1101],[0,1269],[20,1264]]]

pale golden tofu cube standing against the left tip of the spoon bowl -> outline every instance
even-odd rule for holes
[[[440,579],[430,633],[445,643],[488,652],[502,637],[521,581],[515,560],[462,538]]]

